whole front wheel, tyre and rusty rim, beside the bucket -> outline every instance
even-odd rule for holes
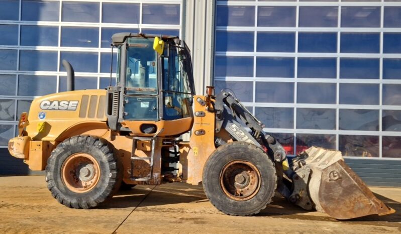
[[[260,148],[232,142],[216,149],[203,171],[210,202],[229,215],[259,213],[270,203],[277,186],[273,162]]]

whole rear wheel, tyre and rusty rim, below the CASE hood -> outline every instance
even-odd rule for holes
[[[67,207],[95,207],[119,189],[119,168],[107,142],[91,136],[71,137],[60,143],[47,161],[47,187]]]

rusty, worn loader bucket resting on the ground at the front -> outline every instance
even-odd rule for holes
[[[373,195],[344,162],[340,151],[311,147],[294,158],[292,169],[295,172],[292,177],[294,188],[303,187],[300,184],[303,183],[309,194],[309,197],[306,194],[302,196],[299,193],[302,189],[295,190],[292,201],[296,200],[294,203],[304,208],[314,205],[318,211],[336,219],[395,212]],[[308,206],[308,201],[312,201],[313,205]]]

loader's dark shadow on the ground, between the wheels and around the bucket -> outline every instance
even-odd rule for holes
[[[152,190],[153,189],[153,190]],[[150,193],[151,192],[151,193]],[[150,193],[146,199],[145,196]],[[349,220],[337,220],[327,214],[317,212],[315,210],[304,210],[296,205],[288,202],[279,193],[276,193],[272,202],[258,213],[257,217],[270,216],[275,218],[290,218],[300,220],[315,220],[315,221],[333,221],[333,222],[352,222],[353,224],[369,224],[383,225],[384,223],[394,222],[394,225],[401,224],[401,203],[394,201],[390,198],[384,197],[380,194],[374,195],[382,200],[387,206],[396,210],[394,214],[378,216],[369,215],[360,218]],[[113,209],[113,208],[135,208],[140,204],[140,207],[158,206],[167,204],[178,203],[199,203],[209,202],[207,199],[202,185],[193,186],[184,183],[163,184],[160,186],[136,186],[131,190],[119,191],[108,202],[98,206],[99,209]],[[312,212],[312,213],[311,213]],[[216,211],[216,213],[219,213]],[[307,214],[308,213],[308,214]]]

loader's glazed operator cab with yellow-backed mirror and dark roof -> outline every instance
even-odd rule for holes
[[[112,40],[118,58],[117,83],[108,88],[110,128],[137,136],[189,131],[194,82],[186,44],[178,37],[133,33]],[[179,127],[172,128],[173,122]]]

